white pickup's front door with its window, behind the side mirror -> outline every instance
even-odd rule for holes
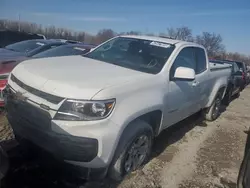
[[[193,47],[183,48],[170,68],[169,93],[165,105],[164,125],[170,126],[199,110],[199,93],[195,80],[174,79],[178,67],[195,70],[196,61]]]

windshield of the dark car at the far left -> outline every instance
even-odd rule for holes
[[[36,40],[28,40],[28,41],[22,41],[22,42],[17,42],[11,45],[6,46],[5,48],[8,50],[12,50],[15,52],[23,52],[27,53],[31,50],[34,50],[35,48],[38,48],[40,46],[43,46],[45,43],[43,42],[38,42]]]

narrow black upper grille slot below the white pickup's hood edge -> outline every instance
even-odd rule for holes
[[[32,93],[33,95],[36,95],[38,97],[41,97],[51,103],[54,103],[54,104],[58,104],[60,103],[63,98],[62,97],[58,97],[58,96],[55,96],[55,95],[51,95],[51,94],[48,94],[48,93],[45,93],[43,91],[40,91],[38,89],[35,89],[33,87],[30,87],[28,85],[26,85],[25,83],[23,83],[22,81],[20,81],[18,78],[16,78],[13,74],[11,74],[11,77],[10,79],[15,82],[17,85],[19,85],[19,87],[23,88],[24,90]]]

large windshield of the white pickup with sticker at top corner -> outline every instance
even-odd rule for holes
[[[162,42],[117,37],[86,54],[85,57],[157,74],[165,65],[174,48],[174,45]]]

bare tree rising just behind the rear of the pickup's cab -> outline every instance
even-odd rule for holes
[[[196,36],[195,41],[207,49],[209,56],[216,56],[225,51],[225,47],[222,44],[222,37],[219,34],[203,32],[202,35]]]

